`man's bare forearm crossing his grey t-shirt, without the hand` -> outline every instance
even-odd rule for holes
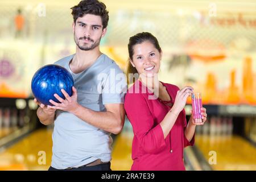
[[[118,134],[123,127],[124,118],[116,117],[111,111],[94,111],[79,105],[72,113],[82,121],[113,134]]]

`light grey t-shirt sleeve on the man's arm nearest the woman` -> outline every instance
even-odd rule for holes
[[[102,80],[102,104],[123,104],[127,91],[125,74],[119,67],[112,67]]]

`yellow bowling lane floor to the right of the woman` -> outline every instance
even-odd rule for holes
[[[256,148],[240,136],[196,135],[196,146],[207,162],[216,152],[214,170],[256,170]]]

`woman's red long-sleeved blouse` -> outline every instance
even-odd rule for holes
[[[160,122],[170,111],[179,88],[172,84],[162,84],[166,86],[171,101],[149,99],[148,96],[152,97],[153,93],[138,80],[125,96],[126,115],[134,132],[131,170],[185,170],[183,148],[195,143],[195,135],[191,142],[184,135],[187,126],[184,109],[164,139]]]

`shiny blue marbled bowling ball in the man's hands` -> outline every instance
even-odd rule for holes
[[[31,90],[36,100],[44,105],[52,105],[49,100],[60,103],[53,94],[56,93],[65,99],[61,92],[61,89],[64,89],[69,96],[72,96],[73,85],[73,77],[67,69],[60,65],[49,64],[40,68],[35,73],[31,81]]]

